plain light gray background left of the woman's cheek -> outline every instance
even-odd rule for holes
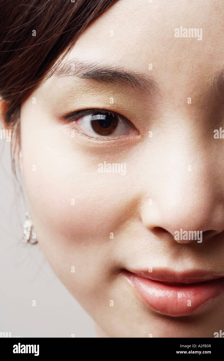
[[[56,278],[39,245],[21,242],[28,206],[18,188],[10,142],[0,139],[0,332],[94,337],[92,319]]]

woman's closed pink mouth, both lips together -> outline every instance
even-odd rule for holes
[[[148,308],[167,316],[188,316],[207,309],[224,292],[224,275],[164,268],[123,270],[134,295]]]

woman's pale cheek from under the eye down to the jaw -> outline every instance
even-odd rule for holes
[[[59,131],[43,128],[35,122],[32,129],[29,122],[21,125],[23,174],[37,239],[59,279],[88,303],[105,287],[113,267],[110,232],[123,222],[124,209],[130,210],[124,191],[131,187],[126,176],[99,173],[104,161],[99,155],[86,155]],[[100,277],[105,278],[99,284]]]

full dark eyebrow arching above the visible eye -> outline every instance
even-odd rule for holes
[[[77,58],[60,64],[51,71],[48,78],[78,77],[80,79],[94,79],[96,81],[130,86],[143,92],[157,93],[159,86],[155,79],[149,75],[128,71],[113,64],[102,64],[100,61],[91,63]]]

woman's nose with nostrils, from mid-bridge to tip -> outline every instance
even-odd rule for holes
[[[178,243],[202,243],[224,230],[224,202],[216,186],[219,182],[207,162],[180,164],[179,160],[173,165],[164,160],[154,181],[147,184],[142,222],[160,238],[169,234]]]

